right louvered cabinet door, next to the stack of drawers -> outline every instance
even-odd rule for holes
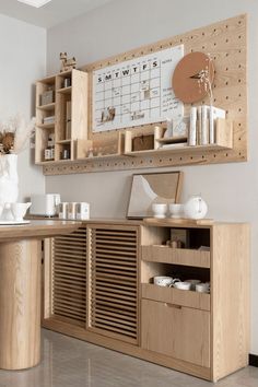
[[[91,231],[90,327],[138,343],[138,228],[99,226]]]

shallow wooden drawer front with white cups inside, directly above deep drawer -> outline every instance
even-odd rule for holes
[[[157,286],[152,283],[141,284],[142,298],[161,301],[195,309],[210,310],[210,294],[185,291],[175,288]]]

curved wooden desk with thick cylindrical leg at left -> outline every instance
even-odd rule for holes
[[[32,221],[0,226],[0,368],[39,363],[42,239],[69,234],[80,224]]]

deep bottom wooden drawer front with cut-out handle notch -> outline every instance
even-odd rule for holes
[[[149,351],[210,367],[210,313],[142,300],[141,344]]]

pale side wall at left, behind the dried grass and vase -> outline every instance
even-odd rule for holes
[[[46,31],[0,14],[0,120],[35,114],[33,83],[46,72]],[[19,155],[19,200],[45,190],[42,168],[33,165],[30,148]]]

